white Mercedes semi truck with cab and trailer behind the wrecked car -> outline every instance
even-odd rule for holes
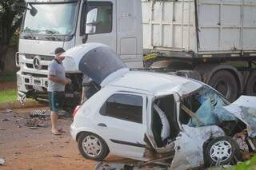
[[[153,62],[196,77],[230,101],[256,94],[254,0],[27,0],[26,8],[16,64],[27,97],[47,98],[54,49],[86,42],[109,45],[131,69]],[[72,60],[64,66],[66,105],[76,105],[82,73]]]

